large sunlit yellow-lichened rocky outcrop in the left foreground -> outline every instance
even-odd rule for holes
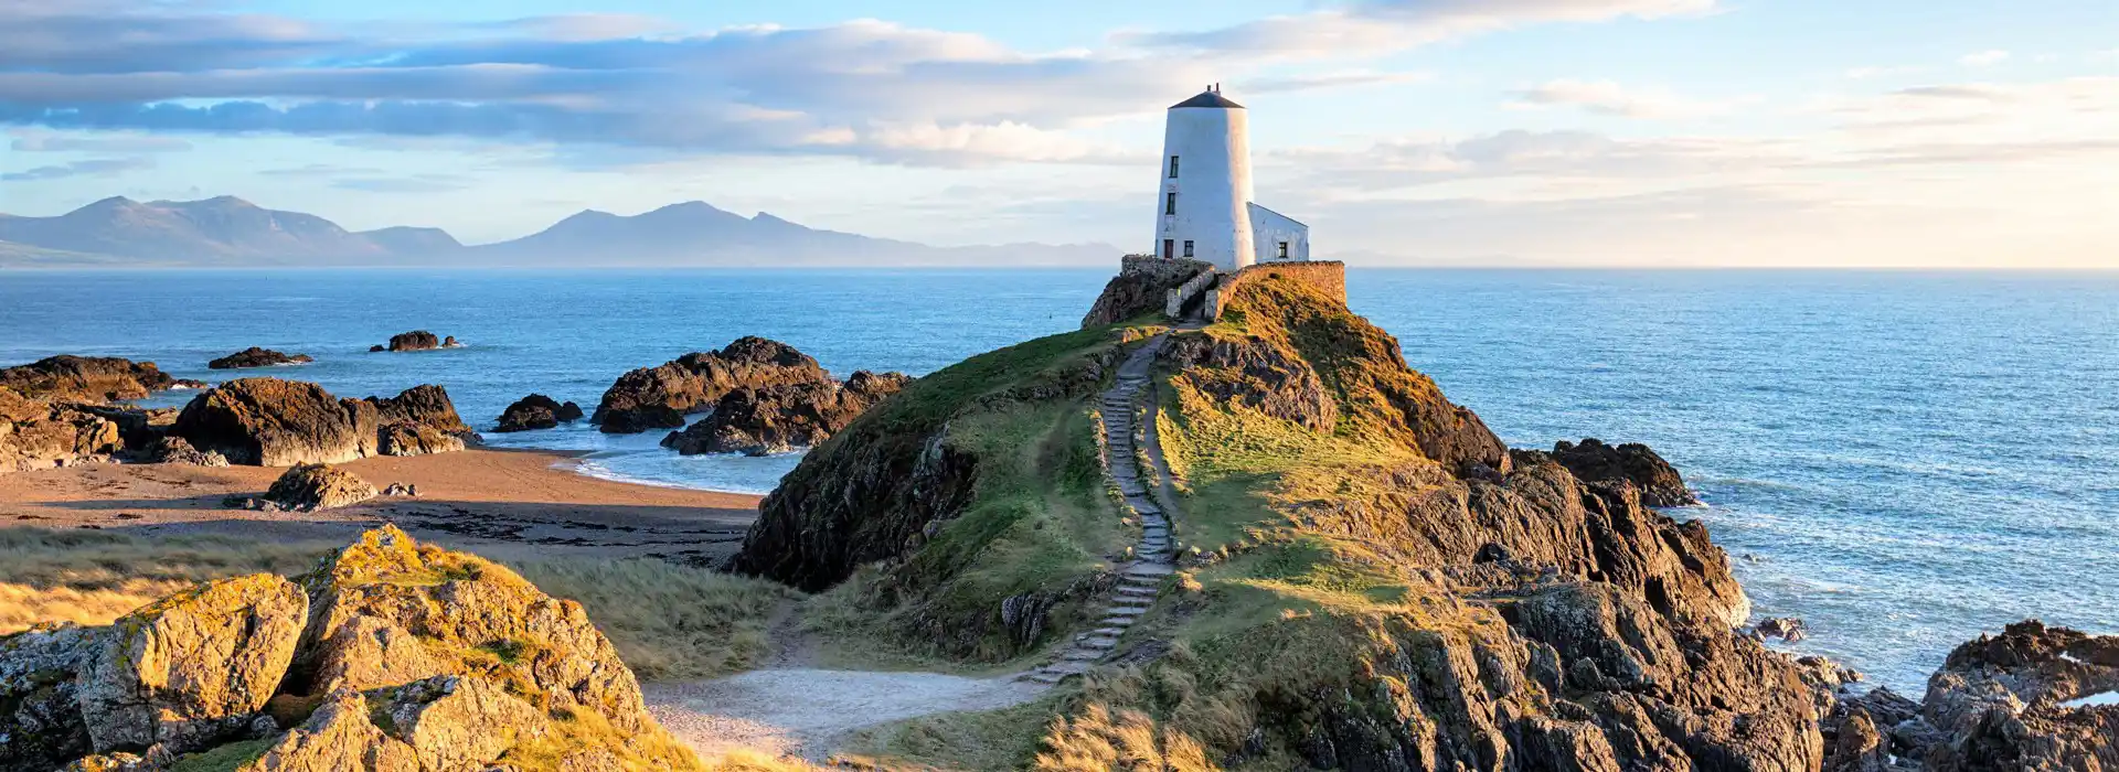
[[[227,747],[246,738],[263,742]],[[699,768],[581,605],[394,527],[299,582],[210,582],[112,626],[0,637],[0,770],[203,768],[210,749],[244,772]]]

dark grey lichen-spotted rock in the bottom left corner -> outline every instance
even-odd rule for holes
[[[108,630],[66,624],[0,637],[0,770],[53,770],[91,751],[74,673]]]

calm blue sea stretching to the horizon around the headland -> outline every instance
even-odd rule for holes
[[[1106,271],[0,273],[0,364],[206,362],[339,396],[441,383],[477,427],[526,396],[593,408],[621,372],[744,334],[829,370],[932,372],[1070,330]],[[2119,632],[2119,273],[1352,269],[1399,336],[1509,444],[1646,442],[1685,472],[1761,615],[1920,694],[1956,643],[2022,618]],[[369,353],[432,330],[460,349]],[[254,372],[254,370],[250,370]],[[157,404],[180,404],[178,391]],[[769,491],[799,457],[678,457],[659,434],[487,434],[583,474]],[[1778,643],[1776,643],[1778,645]]]

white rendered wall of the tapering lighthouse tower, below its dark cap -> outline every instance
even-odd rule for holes
[[[1174,180],[1170,157],[1178,157]],[[1250,235],[1250,121],[1242,108],[1170,108],[1155,178],[1153,254],[1161,256],[1170,239],[1172,256],[1182,258],[1185,241],[1191,241],[1193,260],[1223,271],[1257,258]],[[1178,195],[1176,214],[1163,214],[1170,192]]]

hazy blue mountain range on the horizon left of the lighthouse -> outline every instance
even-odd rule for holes
[[[746,218],[689,201],[617,216],[585,209],[521,239],[464,245],[441,228],[345,231],[237,197],[112,197],[55,218],[0,214],[0,269],[28,266],[1070,266],[1104,243],[932,247]]]

